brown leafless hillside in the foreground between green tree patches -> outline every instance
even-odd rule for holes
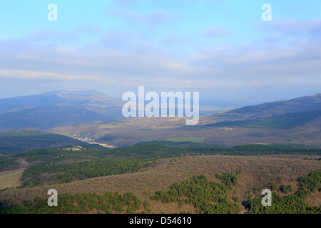
[[[304,157],[310,156],[212,155],[170,158],[158,160],[155,167],[136,173],[96,177],[63,185],[9,189],[0,192],[0,200],[11,198],[13,202],[21,203],[23,199],[34,199],[36,196],[46,198],[46,192],[51,188],[56,189],[58,195],[65,192],[133,192],[142,201],[150,202],[151,213],[195,212],[193,205],[178,207],[178,204],[163,204],[151,200],[150,197],[154,192],[168,190],[174,182],[180,182],[193,175],[205,175],[210,181],[219,181],[215,177],[216,174],[238,169],[242,169],[238,185],[230,190],[229,196],[237,196],[240,204],[245,199],[245,192],[250,191],[249,195],[257,197],[263,189],[269,187],[270,182],[277,182],[277,177],[281,177],[282,184],[293,185],[296,191],[297,177],[321,169],[320,161],[303,160]],[[315,193],[307,202],[320,207],[320,198],[320,193]]]

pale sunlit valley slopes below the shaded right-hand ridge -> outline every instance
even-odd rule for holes
[[[76,139],[84,138],[86,135],[95,142],[118,147],[168,138],[203,138],[202,142],[205,143],[228,146],[254,143],[291,143],[314,147],[321,145],[320,116],[309,123],[296,125],[290,129],[260,128],[259,125],[251,128],[240,124],[233,127],[215,125],[219,120],[218,117],[213,119],[200,117],[198,125],[188,126],[185,125],[185,118],[129,118],[61,126],[49,131]],[[108,128],[102,128],[103,125],[108,125]]]

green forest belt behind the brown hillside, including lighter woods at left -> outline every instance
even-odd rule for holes
[[[131,147],[101,150],[101,146],[83,145],[29,150],[0,157],[0,170],[24,160],[28,165],[22,175],[23,185],[66,183],[91,177],[136,172],[166,157],[201,155],[321,155],[321,148],[287,147],[279,145],[239,145],[215,147],[200,143],[146,142]]]

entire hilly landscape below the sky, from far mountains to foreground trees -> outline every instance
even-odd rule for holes
[[[93,120],[87,111],[106,115],[88,102],[98,93],[55,94],[49,108],[40,99],[38,108],[1,114],[11,129],[0,130],[0,213],[320,214],[320,94],[203,115],[198,125],[178,117]],[[81,118],[69,115],[73,108],[63,110],[73,122],[51,119],[52,110],[74,104],[87,110]],[[16,113],[25,111],[33,114],[20,121]],[[53,188],[61,199],[54,208],[46,205]],[[270,210],[260,204],[263,189],[277,202]]]

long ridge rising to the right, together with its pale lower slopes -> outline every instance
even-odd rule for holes
[[[52,133],[88,137],[127,146],[151,140],[207,142],[218,145],[249,143],[321,145],[321,94],[250,105],[200,117],[198,125],[185,118],[127,118],[52,128]]]

